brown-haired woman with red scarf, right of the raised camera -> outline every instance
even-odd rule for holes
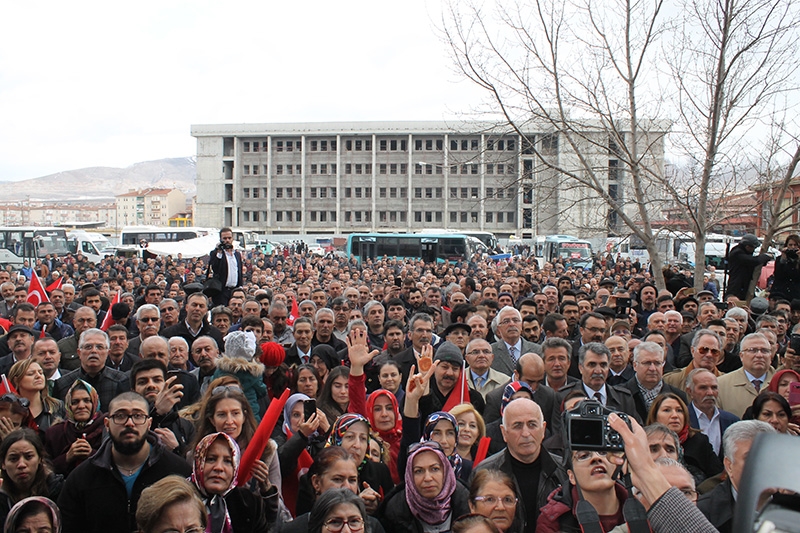
[[[658,422],[674,431],[683,448],[683,462],[699,485],[722,472],[722,462],[711,443],[700,430],[689,426],[689,409],[676,394],[659,394],[650,406],[647,423]]]

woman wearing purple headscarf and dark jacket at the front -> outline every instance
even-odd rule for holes
[[[456,481],[441,446],[428,441],[409,450],[405,484],[388,498],[382,523],[387,533],[444,532],[469,512],[469,491]]]

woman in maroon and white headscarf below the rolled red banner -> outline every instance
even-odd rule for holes
[[[278,489],[269,479],[259,493],[236,486],[241,453],[225,433],[206,435],[194,451],[191,481],[205,502],[208,533],[269,531],[278,513]]]

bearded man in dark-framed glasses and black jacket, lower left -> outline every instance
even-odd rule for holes
[[[109,405],[109,439],[64,483],[58,507],[64,531],[135,531],[136,505],[145,487],[169,475],[187,477],[189,464],[150,431],[150,406],[126,392]]]

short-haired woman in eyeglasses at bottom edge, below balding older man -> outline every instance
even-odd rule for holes
[[[502,533],[520,533],[517,521],[517,488],[511,476],[501,470],[479,470],[469,487],[469,508],[489,518]]]

